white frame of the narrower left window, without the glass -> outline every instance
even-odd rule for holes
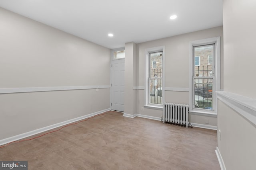
[[[150,88],[149,88],[149,69],[150,69],[150,53],[162,51],[162,104],[150,104]],[[164,69],[164,62],[165,62],[165,52],[164,52],[164,46],[160,47],[153,47],[145,49],[145,68],[144,68],[144,107],[146,108],[152,108],[152,109],[163,109],[163,103],[165,99],[165,69]]]

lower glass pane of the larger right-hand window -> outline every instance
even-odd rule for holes
[[[212,109],[212,80],[213,78],[194,79],[194,104],[196,108]]]

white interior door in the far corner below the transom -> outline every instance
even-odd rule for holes
[[[112,61],[112,110],[124,111],[124,59]]]

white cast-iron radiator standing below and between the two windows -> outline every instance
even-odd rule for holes
[[[188,105],[164,103],[163,123],[175,123],[178,125],[186,125],[188,128]]]

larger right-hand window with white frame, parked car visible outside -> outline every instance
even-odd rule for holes
[[[220,90],[220,37],[190,41],[189,52],[189,112],[216,115],[215,92]]]

